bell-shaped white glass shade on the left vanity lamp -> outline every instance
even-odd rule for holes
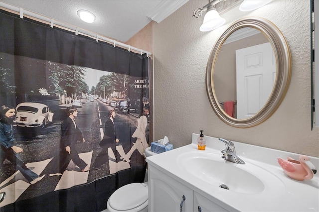
[[[220,17],[214,9],[208,10],[204,16],[203,24],[199,27],[202,32],[214,30],[226,22],[225,18]]]

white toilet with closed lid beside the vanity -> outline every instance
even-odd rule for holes
[[[151,151],[151,146],[145,150],[146,157],[156,154]],[[122,186],[111,195],[106,205],[106,212],[147,212],[149,186],[147,183],[131,183]]]

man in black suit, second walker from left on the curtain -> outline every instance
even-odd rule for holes
[[[82,172],[89,171],[90,169],[90,166],[79,157],[75,146],[79,142],[85,142],[81,130],[75,123],[75,117],[77,117],[78,111],[75,107],[68,107],[67,112],[69,117],[67,117],[61,125],[62,134],[60,140],[59,162],[53,162],[54,174],[50,174],[50,176],[62,175],[71,160]]]

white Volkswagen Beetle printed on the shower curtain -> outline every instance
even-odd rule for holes
[[[16,125],[20,127],[44,128],[52,122],[53,112],[40,103],[20,103],[16,106]]]

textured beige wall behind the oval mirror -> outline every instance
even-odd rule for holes
[[[219,29],[200,32],[202,18],[192,17],[207,0],[190,0],[159,24],[153,24],[155,140],[166,135],[174,148],[191,142],[191,133],[319,157],[319,128],[311,130],[310,2],[275,0],[266,6],[224,13]],[[276,112],[251,128],[225,124],[206,94],[205,72],[216,39],[240,17],[261,16],[278,26],[292,55],[292,78]]]

